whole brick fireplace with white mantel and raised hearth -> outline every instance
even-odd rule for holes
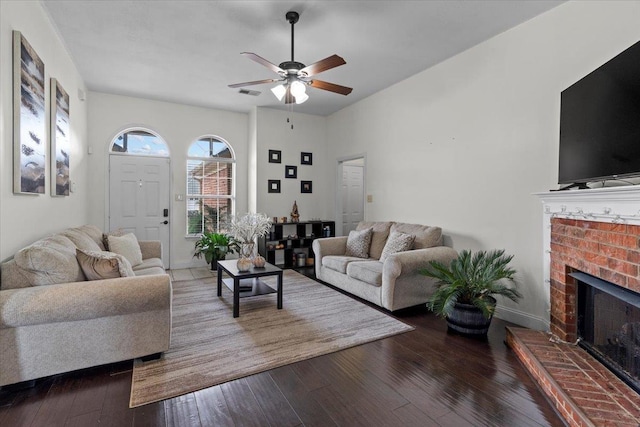
[[[574,345],[578,281],[570,275],[587,273],[640,292],[636,187],[538,194],[544,207],[549,329],[508,328],[507,343],[570,426],[640,425],[640,396]]]

